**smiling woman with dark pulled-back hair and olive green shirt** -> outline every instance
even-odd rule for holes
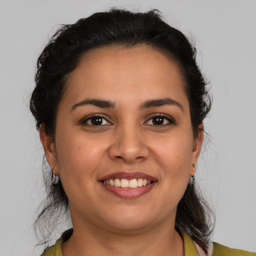
[[[53,229],[62,207],[73,226],[42,255],[255,255],[209,242],[193,180],[210,99],[194,47],[157,11],[61,27],[35,81],[53,183],[37,224]]]

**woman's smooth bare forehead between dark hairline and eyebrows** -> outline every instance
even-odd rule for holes
[[[86,52],[68,76],[63,98],[139,101],[166,96],[186,99],[178,64],[150,46],[139,45],[108,46]]]

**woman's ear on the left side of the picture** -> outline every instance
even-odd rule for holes
[[[40,124],[40,140],[44,149],[46,160],[51,169],[54,169],[54,173],[58,175],[57,157],[55,151],[55,144],[52,137],[45,132],[44,123]]]

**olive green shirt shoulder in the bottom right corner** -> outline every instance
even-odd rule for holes
[[[256,252],[246,250],[232,249],[227,246],[213,242],[212,256],[256,256]]]

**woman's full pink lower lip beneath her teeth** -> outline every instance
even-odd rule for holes
[[[122,197],[122,198],[137,198],[145,193],[148,193],[156,183],[155,181],[151,182],[148,185],[145,186],[138,186],[136,188],[130,188],[130,187],[120,187],[120,186],[110,186],[107,184],[104,184],[100,181],[101,185],[108,190],[109,192]]]

